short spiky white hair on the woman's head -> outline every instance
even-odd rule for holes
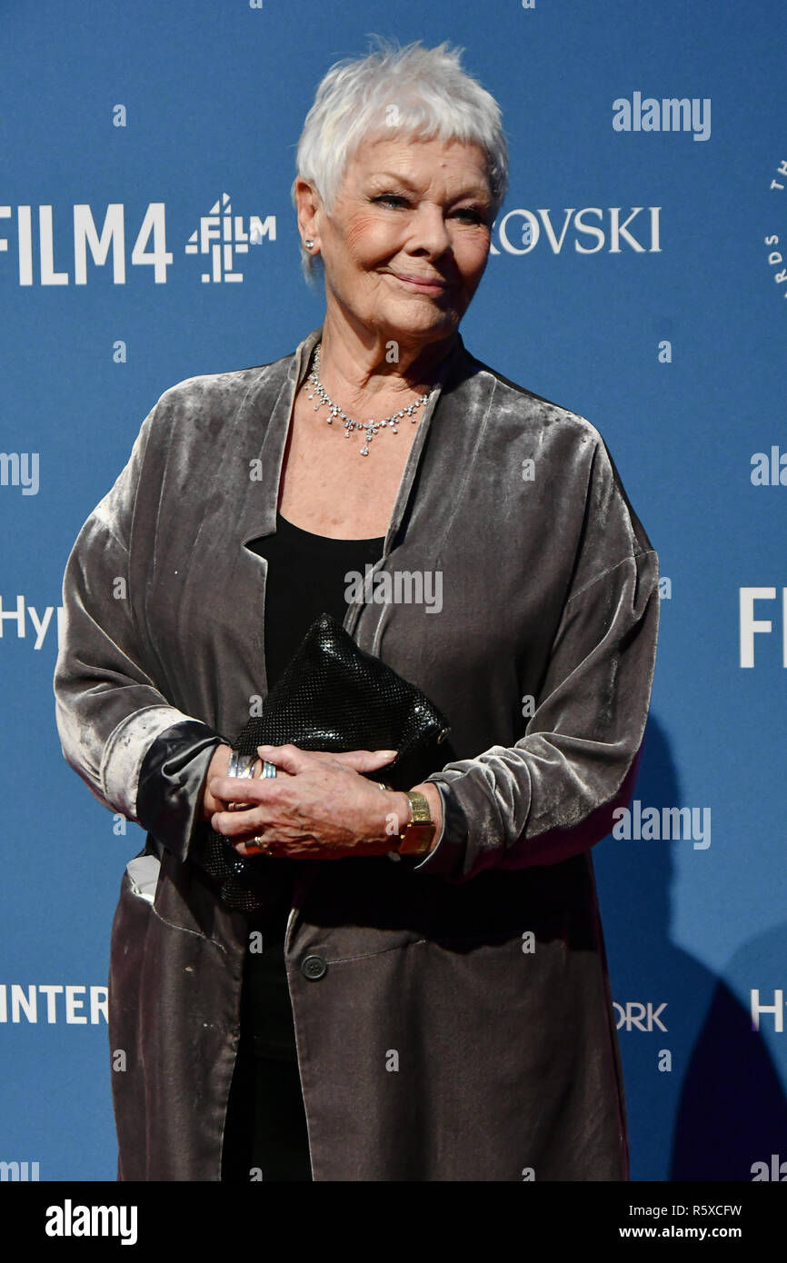
[[[331,215],[350,159],[364,139],[384,133],[393,116],[399,134],[479,145],[486,157],[494,218],[508,189],[502,111],[462,69],[464,49],[447,43],[423,48],[419,39],[399,48],[381,35],[371,38],[379,43],[376,52],[335,62],[320,83],[298,141],[296,179],[308,179]],[[303,242],[301,265],[313,284],[315,256]]]

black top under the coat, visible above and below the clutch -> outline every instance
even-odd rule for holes
[[[352,572],[383,556],[379,539],[330,539],[287,522],[277,514],[274,536],[249,544],[268,561],[265,581],[265,669],[268,692],[274,687],[309,626],[320,614],[344,623],[345,592]],[[357,589],[356,589],[357,590]],[[264,859],[258,860],[264,863]],[[298,864],[299,860],[288,860]],[[278,868],[282,865],[279,864]],[[282,883],[280,898],[260,913],[250,913],[249,928],[259,928],[263,951],[249,951],[243,988],[241,1032],[258,1056],[296,1061],[292,1008],[284,970],[284,933],[292,904],[292,879]]]

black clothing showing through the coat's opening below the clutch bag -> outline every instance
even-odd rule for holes
[[[221,1180],[311,1180],[306,1111],[284,970],[287,907],[249,917],[263,951],[244,966],[240,1047],[225,1128]]]

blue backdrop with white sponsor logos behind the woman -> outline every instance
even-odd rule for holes
[[[500,102],[465,344],[600,429],[661,558],[629,836],[594,853],[633,1178],[786,1180],[783,0],[3,0],[0,28],[0,1162],[115,1177],[109,933],[143,834],[62,759],[68,551],[167,386],[321,323],[294,150],[378,32],[459,44]]]

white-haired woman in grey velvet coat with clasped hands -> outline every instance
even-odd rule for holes
[[[464,346],[505,187],[456,51],[333,66],[293,184],[322,326],[167,390],[73,548],[64,755],[148,831],[111,941],[121,1180],[628,1178],[590,849],[634,786],[657,557],[598,429]],[[227,774],[323,611],[447,717],[407,791],[393,750]],[[196,863],[211,827],[261,909]]]

